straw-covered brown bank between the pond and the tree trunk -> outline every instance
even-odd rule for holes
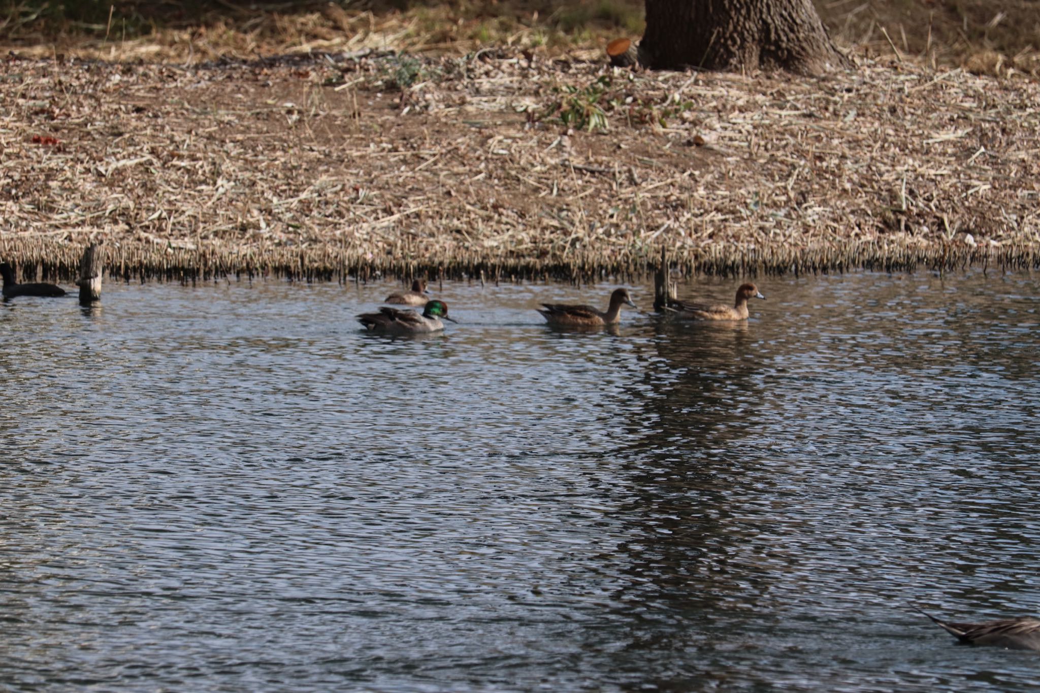
[[[64,273],[104,239],[127,273],[317,277],[624,273],[661,244],[720,273],[1040,261],[1033,82],[410,60],[8,59],[0,252]],[[607,132],[538,119],[603,75]]]

